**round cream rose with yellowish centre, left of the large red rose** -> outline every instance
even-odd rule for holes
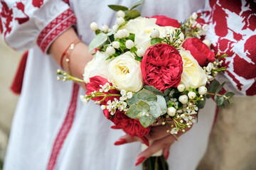
[[[110,81],[119,90],[139,91],[143,87],[140,62],[134,60],[131,52],[116,57],[108,65]]]

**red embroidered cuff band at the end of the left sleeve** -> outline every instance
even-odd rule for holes
[[[65,29],[72,26],[76,21],[77,19],[75,18],[75,14],[71,8],[68,8],[41,31],[37,39],[38,46],[43,52],[46,52],[50,42],[52,42]]]

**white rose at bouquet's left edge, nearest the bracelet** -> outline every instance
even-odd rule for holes
[[[97,51],[93,56],[92,60],[87,63],[85,66],[85,72],[83,74],[83,79],[85,83],[89,83],[90,77],[100,76],[107,79],[108,77],[108,69],[107,65],[112,60],[106,60],[108,55],[105,52]]]

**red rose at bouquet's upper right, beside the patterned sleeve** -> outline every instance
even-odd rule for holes
[[[191,52],[201,67],[206,66],[209,62],[214,62],[214,52],[198,38],[186,39],[182,47]]]

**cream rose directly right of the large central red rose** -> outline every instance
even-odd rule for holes
[[[194,89],[199,86],[206,86],[206,72],[200,67],[196,59],[187,50],[181,48],[180,54],[183,61],[183,72],[181,74],[181,84],[188,89],[190,86]]]

